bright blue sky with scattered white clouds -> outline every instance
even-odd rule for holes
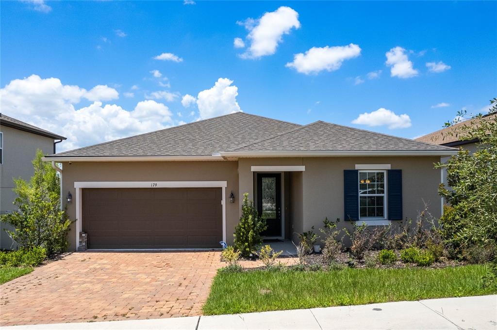
[[[2,1],[2,112],[66,134],[63,149],[239,109],[412,138],[497,96],[496,14],[495,1]]]

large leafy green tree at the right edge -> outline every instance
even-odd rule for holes
[[[444,208],[442,234],[455,248],[472,245],[497,244],[497,99],[490,101],[489,115],[471,119],[450,132],[459,140],[477,139],[474,153],[460,149],[445,164],[448,187],[440,185],[439,193],[450,206]],[[450,127],[466,116],[458,113],[458,120],[446,123]]]

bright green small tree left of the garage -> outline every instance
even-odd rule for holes
[[[26,182],[14,179],[14,204],[18,210],[1,215],[1,220],[14,226],[5,230],[22,248],[43,247],[49,257],[67,249],[67,232],[71,221],[60,209],[60,178],[57,171],[41,158],[37,150],[33,160],[34,175]]]

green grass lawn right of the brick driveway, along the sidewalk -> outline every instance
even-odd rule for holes
[[[482,286],[489,268],[220,271],[203,311],[234,314],[494,294]]]

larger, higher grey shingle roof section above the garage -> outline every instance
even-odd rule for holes
[[[301,127],[237,112],[60,152],[56,156],[211,156]]]

